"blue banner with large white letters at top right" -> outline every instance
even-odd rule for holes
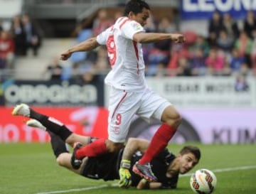
[[[181,18],[183,19],[209,19],[213,11],[221,14],[230,13],[233,18],[245,18],[247,11],[256,14],[255,0],[181,0]]]

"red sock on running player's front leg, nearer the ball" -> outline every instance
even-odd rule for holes
[[[149,147],[139,160],[140,164],[151,162],[152,158],[157,156],[167,146],[170,139],[174,136],[176,128],[168,124],[162,124],[154,134]]]

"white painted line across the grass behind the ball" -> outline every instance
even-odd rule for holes
[[[239,167],[234,167],[234,168],[220,168],[220,169],[215,169],[211,170],[214,173],[220,173],[220,172],[227,172],[227,171],[241,171],[241,170],[248,170],[256,168],[256,166],[239,166]],[[182,176],[191,176],[192,173],[187,173]],[[107,187],[116,187],[118,184],[113,183],[113,184],[105,184],[105,185],[100,185],[100,186],[95,186],[95,187],[90,187],[90,188],[73,188],[69,190],[56,190],[56,191],[49,191],[49,192],[43,192],[43,193],[36,193],[36,194],[55,194],[55,193],[70,193],[70,192],[80,192],[82,190],[94,190],[94,189],[99,189],[99,188],[107,188]]]

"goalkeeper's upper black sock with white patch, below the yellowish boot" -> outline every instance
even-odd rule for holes
[[[65,125],[60,125],[59,122],[55,122],[55,119],[49,119],[46,115],[40,114],[33,109],[30,109],[30,118],[38,120],[43,126],[46,126],[48,131],[60,136],[60,138],[65,141],[72,131],[70,131]]]

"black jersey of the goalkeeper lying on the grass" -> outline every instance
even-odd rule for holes
[[[88,158],[82,176],[93,179],[119,180],[119,167],[122,160],[123,149],[115,153],[107,153],[98,157]],[[133,173],[132,166],[142,158],[142,153],[137,151],[133,154],[131,160],[132,186],[137,186],[142,178]],[[159,156],[151,161],[152,171],[158,178],[158,182],[162,183],[162,188],[176,188],[178,175],[172,178],[166,177],[166,171],[169,164],[174,161],[174,154],[167,149],[162,151]]]

